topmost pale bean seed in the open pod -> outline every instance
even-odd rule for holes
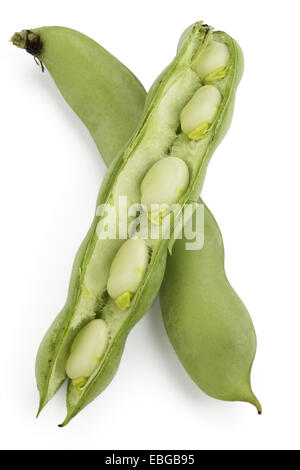
[[[225,77],[229,60],[230,53],[226,44],[211,41],[195,61],[192,69],[201,80],[208,83]]]

